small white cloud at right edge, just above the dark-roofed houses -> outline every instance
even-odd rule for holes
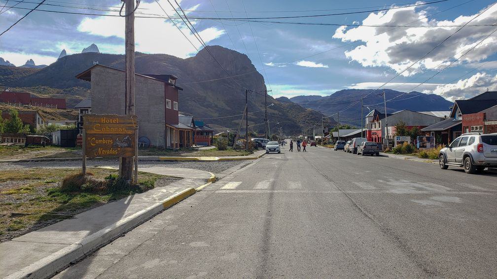
[[[497,74],[491,75],[485,72],[477,72],[467,79],[460,79],[456,83],[439,85],[433,93],[440,95],[451,101],[457,99],[467,99],[480,93],[497,90]]]

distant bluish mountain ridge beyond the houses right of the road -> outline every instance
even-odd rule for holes
[[[350,106],[354,101],[360,100],[362,96],[368,95],[372,89],[344,89],[337,91],[329,96],[296,96],[290,98],[294,103],[301,104],[303,107],[312,108],[326,115],[333,115],[336,112]],[[383,96],[377,94],[385,91],[386,99],[393,99],[387,102],[387,113],[407,109],[412,111],[449,111],[453,104],[443,97],[435,94],[423,94],[420,92],[401,92],[391,89],[381,89],[373,92],[364,98],[364,115],[369,109],[384,111]],[[343,112],[340,112],[340,123],[349,123],[360,125],[361,102],[354,104]],[[334,116],[336,119],[336,116]]]

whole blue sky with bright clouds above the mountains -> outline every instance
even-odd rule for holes
[[[26,8],[36,6],[36,2],[39,0],[22,3],[0,0],[0,8],[5,4],[0,10],[0,31],[22,17],[28,11]],[[174,15],[167,0],[159,3],[168,15]],[[493,5],[493,1],[445,0],[411,7],[406,5],[413,1],[391,0],[182,0],[178,3],[190,18],[347,13],[263,19],[285,24],[193,21],[208,45],[221,45],[247,54],[275,97],[377,88],[398,74],[384,88],[436,93],[449,100],[471,97],[487,88],[497,90],[497,32],[491,34],[497,28],[497,4]],[[115,15],[119,4],[118,0],[47,0],[38,9]],[[371,11],[389,7],[395,8]],[[124,53],[123,18],[47,11],[32,12],[0,36],[0,57],[16,66],[28,59],[37,65],[48,65],[62,49],[68,54],[80,53],[92,43],[100,52]],[[367,12],[351,13],[356,11]],[[156,17],[136,19],[137,51],[181,58],[197,52],[169,19],[161,18],[165,13],[157,2],[142,0],[137,15]],[[200,49],[200,43],[186,25],[179,19],[175,22]],[[461,29],[464,24],[467,26]],[[291,61],[294,62],[288,63]],[[419,86],[421,82],[425,83]]]

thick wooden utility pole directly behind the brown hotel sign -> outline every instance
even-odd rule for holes
[[[125,114],[135,114],[135,0],[124,0],[125,10],[125,46],[126,46],[126,109]],[[136,133],[138,135],[138,131]],[[138,142],[135,141],[135,144]],[[138,161],[138,156],[134,158],[121,157],[119,175],[125,181],[131,181],[133,161]],[[135,166],[137,164],[135,163]],[[135,169],[138,173],[138,170]],[[136,175],[135,175],[136,177]]]

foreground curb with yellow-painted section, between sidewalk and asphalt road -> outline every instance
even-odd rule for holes
[[[208,182],[207,185],[211,183],[212,182]],[[203,188],[207,185],[204,184],[200,187]],[[142,209],[126,218],[123,218],[91,235],[86,236],[80,242],[76,242],[69,245],[68,247],[64,247],[63,249],[53,253],[52,255],[47,256],[7,277],[4,277],[4,279],[49,278],[55,275],[57,272],[65,269],[72,263],[83,259],[98,248],[120,237],[123,233],[132,230],[133,228],[144,223],[163,210],[170,208],[171,206],[190,197],[196,192],[197,190],[193,188],[187,188],[181,192],[178,192],[160,203],[152,205],[146,209]]]

